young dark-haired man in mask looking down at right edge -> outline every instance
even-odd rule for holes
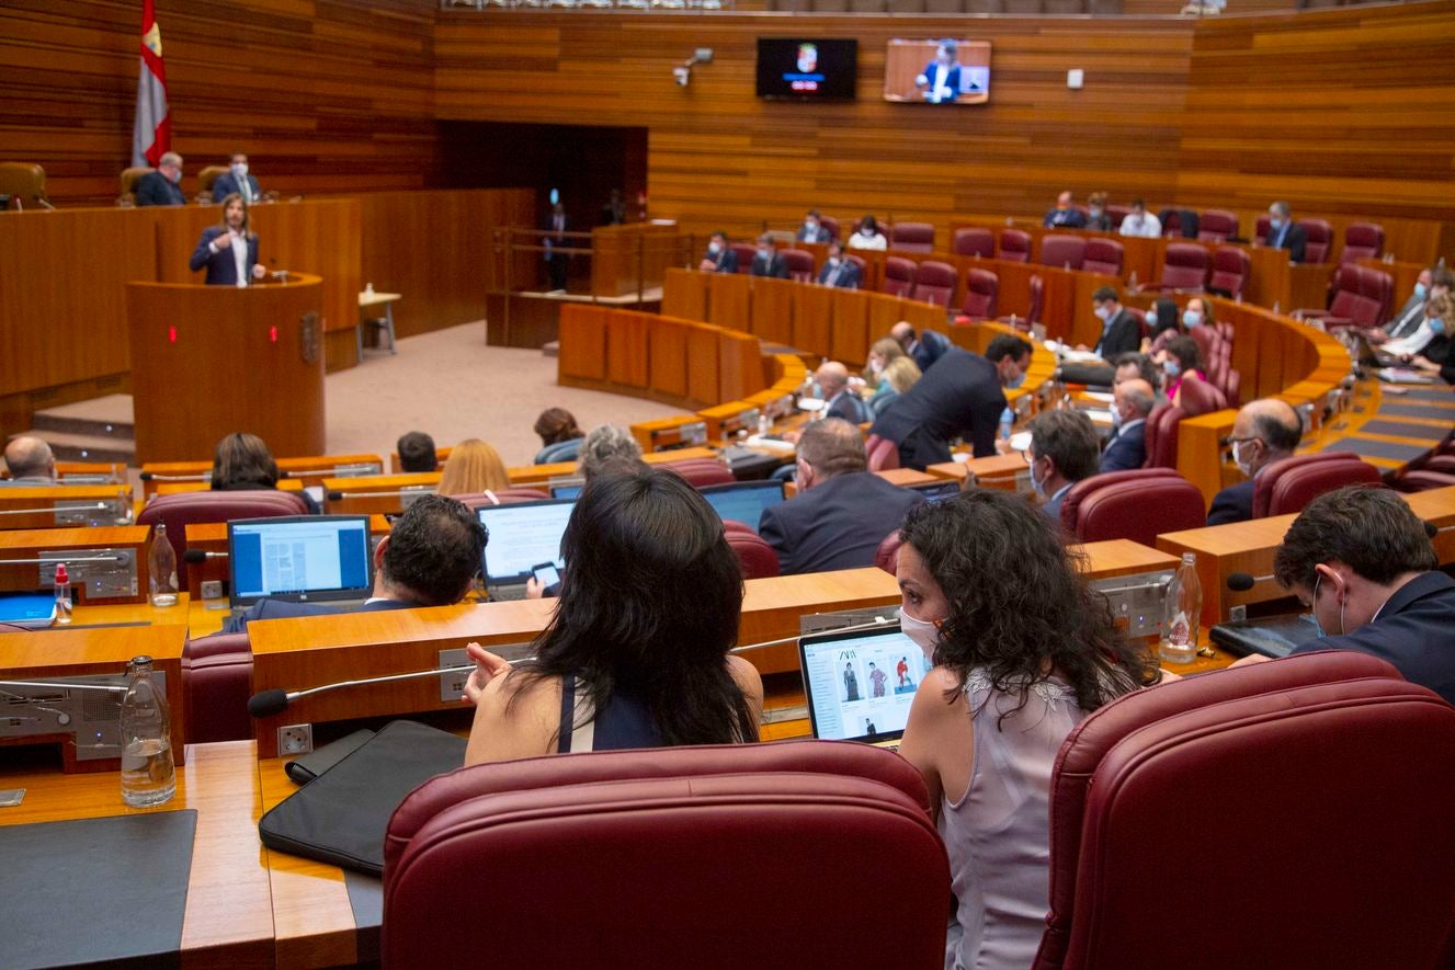
[[[1358,650],[1455,704],[1455,579],[1388,489],[1349,487],[1308,503],[1273,556],[1273,574],[1324,634],[1293,649]]]

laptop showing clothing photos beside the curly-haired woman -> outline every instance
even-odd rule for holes
[[[800,637],[799,665],[813,737],[892,749],[930,666],[899,624]]]

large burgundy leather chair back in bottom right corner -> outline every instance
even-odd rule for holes
[[[1346,650],[1101,707],[1056,755],[1032,967],[1449,966],[1455,774],[1432,766],[1436,750],[1455,750],[1455,710]],[[1237,811],[1209,811],[1229,797]],[[1168,819],[1197,838],[1148,851]],[[1260,902],[1147,932],[1147,900],[1190,887]]]

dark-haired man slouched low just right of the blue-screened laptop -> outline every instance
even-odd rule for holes
[[[464,599],[480,572],[489,534],[463,503],[420,496],[374,548],[374,595],[358,611],[448,606]],[[242,633],[253,620],[340,612],[324,604],[259,599],[233,617],[223,633]]]

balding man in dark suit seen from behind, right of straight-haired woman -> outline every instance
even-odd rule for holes
[[[758,522],[784,574],[873,566],[879,542],[924,500],[866,468],[864,439],[848,422],[826,417],[803,430],[799,493]]]

